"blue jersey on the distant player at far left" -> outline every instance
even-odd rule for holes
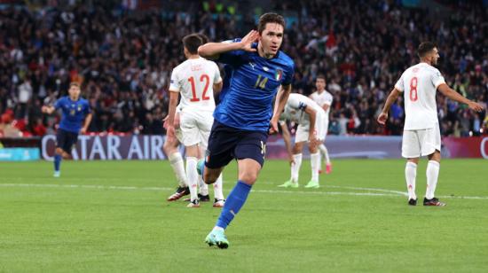
[[[71,100],[69,96],[59,98],[54,107],[56,110],[61,109],[62,111],[59,129],[76,134],[82,129],[85,116],[91,113],[88,100],[83,98],[79,98],[76,101]]]

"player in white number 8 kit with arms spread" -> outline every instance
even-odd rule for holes
[[[427,190],[423,199],[424,206],[445,206],[435,197],[437,177],[441,160],[441,136],[437,120],[436,91],[445,97],[466,104],[470,109],[481,112],[483,106],[462,97],[449,88],[444,77],[437,70],[439,53],[436,45],[430,42],[421,43],[418,49],[421,62],[411,66],[401,75],[395,88],[391,91],[378,116],[382,125],[388,120],[390,106],[401,93],[405,100],[405,126],[402,140],[402,156],[407,159],[405,180],[408,190],[408,204],[417,205],[415,194],[415,177],[417,164],[421,156],[427,156]]]

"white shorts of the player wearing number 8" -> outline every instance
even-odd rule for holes
[[[402,156],[405,159],[419,158],[441,151],[441,133],[439,124],[434,128],[404,130],[402,139]]]

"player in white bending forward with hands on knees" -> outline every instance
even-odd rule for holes
[[[286,121],[298,123],[293,152]],[[302,166],[303,144],[308,141],[311,153],[311,181],[305,185],[305,188],[319,188],[320,154],[318,146],[326,138],[327,129],[325,124],[326,112],[311,98],[296,93],[289,95],[285,109],[279,117],[279,125],[283,130],[283,139],[287,146],[291,165],[291,178],[279,185],[279,187],[298,188],[298,174]]]

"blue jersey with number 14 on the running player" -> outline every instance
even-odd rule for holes
[[[231,73],[225,77],[228,87],[214,112],[216,121],[237,129],[267,132],[272,99],[279,85],[291,84],[293,80],[293,60],[282,51],[274,58],[262,58],[257,52],[229,51],[220,54],[216,61],[230,66],[226,72]]]

